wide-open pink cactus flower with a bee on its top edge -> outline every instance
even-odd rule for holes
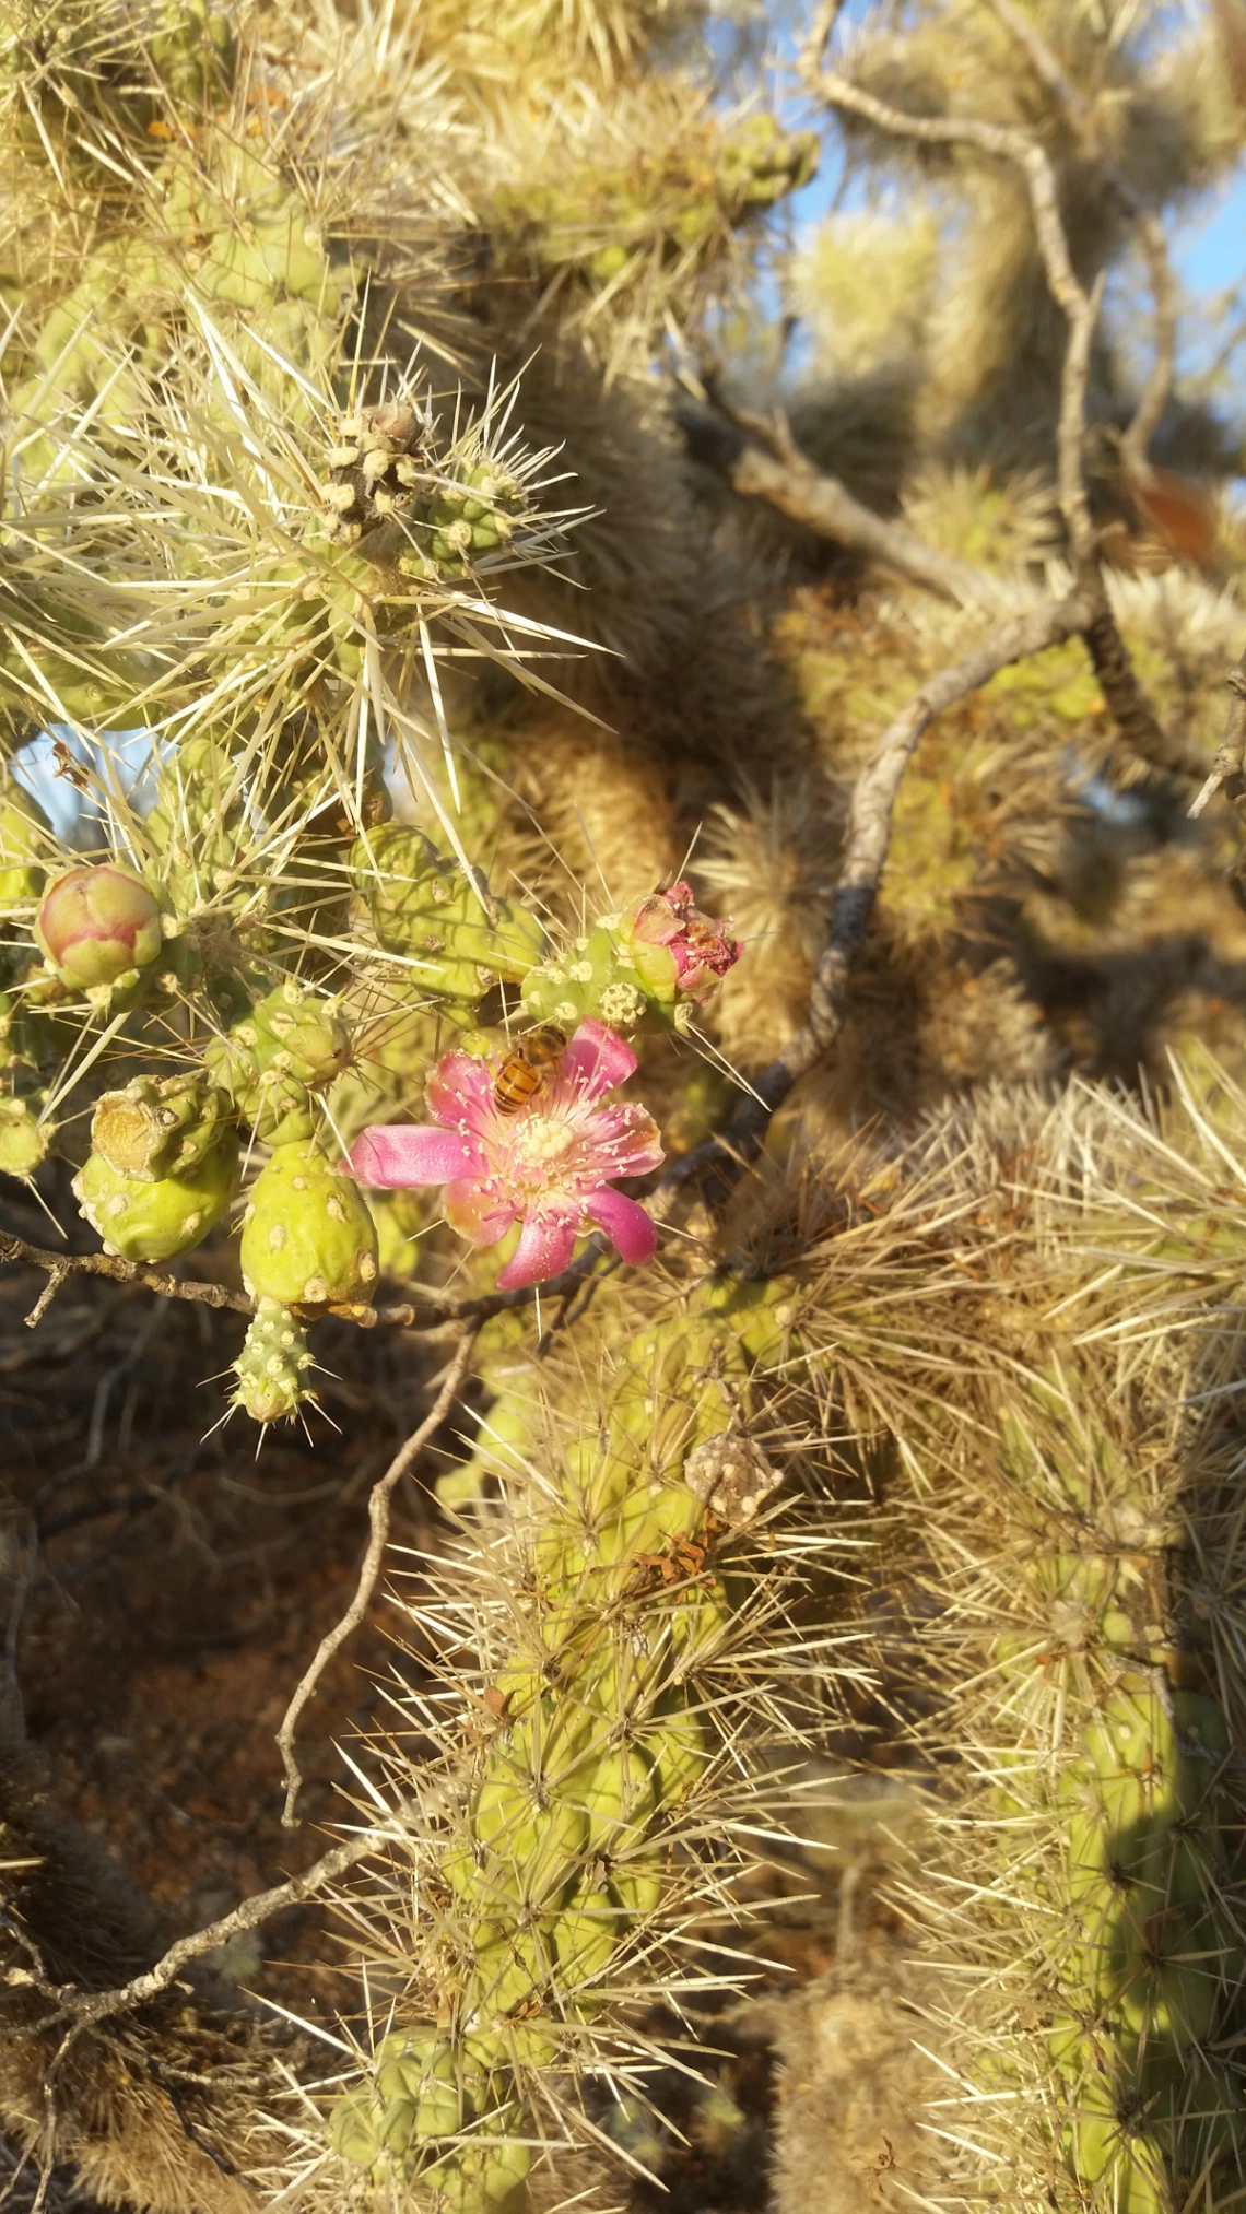
[[[445,1054],[425,1085],[434,1122],[361,1131],[350,1173],[390,1191],[445,1184],[447,1222],[471,1244],[496,1244],[520,1220],[500,1291],[558,1275],[593,1227],[633,1269],[653,1260],[651,1215],[611,1187],[615,1176],[648,1176],[664,1158],[653,1116],[606,1100],[635,1069],[631,1045],[586,1018],[540,1094],[513,1114],[494,1100],[505,1058]]]

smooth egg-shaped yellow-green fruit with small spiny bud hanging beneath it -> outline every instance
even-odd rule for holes
[[[367,1304],[376,1284],[376,1224],[367,1202],[319,1145],[279,1145],[255,1180],[241,1233],[243,1284],[283,1306]]]

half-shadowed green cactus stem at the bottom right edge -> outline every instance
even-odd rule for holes
[[[1239,1838],[1231,1760],[1211,1698],[1129,1669],[1058,1784],[1084,1942],[1062,1977],[1076,2015],[1051,2048],[1076,2092],[1076,2174],[1109,2181],[1120,2205],[1169,2207],[1169,2172],[1197,2174],[1211,2152],[1246,2150],[1242,2099],[1206,2057],[1246,1975],[1228,1904]]]

